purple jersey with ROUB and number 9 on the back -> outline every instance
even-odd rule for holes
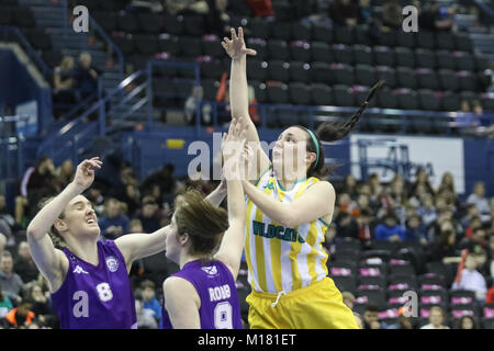
[[[190,282],[201,298],[201,329],[242,329],[240,305],[235,281],[221,261],[192,261],[172,274]],[[190,303],[190,302],[184,302]],[[162,301],[162,328],[172,329]]]

